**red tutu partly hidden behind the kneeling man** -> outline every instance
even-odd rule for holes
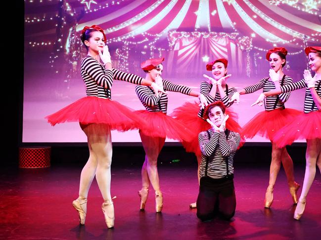
[[[196,156],[201,155],[201,150],[198,144],[198,134],[211,128],[211,125],[208,122],[197,116],[198,111],[199,103],[186,102],[183,106],[175,108],[171,114],[171,116],[182,122],[193,133],[191,136],[192,140],[183,141],[182,144],[186,149],[186,152],[193,152]],[[226,122],[226,128],[233,132],[241,133],[241,127],[234,120],[235,118],[237,119],[237,114],[230,111],[228,108],[226,109],[226,114],[229,115],[229,119]],[[245,138],[241,137],[241,142],[238,147],[240,148],[244,142]]]

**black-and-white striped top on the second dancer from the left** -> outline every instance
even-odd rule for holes
[[[163,79],[163,87],[165,91],[180,92],[189,95],[192,91],[189,87],[174,84],[168,80]],[[140,102],[144,105],[146,110],[150,112],[163,112],[167,114],[168,97],[166,94],[155,95],[154,90],[147,86],[136,86],[136,94]]]

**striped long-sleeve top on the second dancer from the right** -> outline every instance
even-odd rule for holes
[[[282,84],[282,80],[280,80],[280,84],[282,86],[287,86],[291,83],[293,83],[292,78],[289,76],[286,76],[286,75],[284,75],[283,84]],[[263,88],[263,92],[265,93],[265,92],[269,92],[271,90],[275,90],[275,85],[274,85],[273,81],[270,80],[270,77],[262,78],[256,84],[244,88],[245,94],[254,93],[254,92],[260,90],[261,88]],[[282,94],[279,94],[276,96],[266,97],[266,99],[264,100],[265,110],[270,111],[270,110],[280,108],[280,107],[284,108],[284,103],[289,99],[290,93],[291,92],[288,91],[286,93],[282,93]],[[276,102],[276,105],[275,105],[275,102]]]

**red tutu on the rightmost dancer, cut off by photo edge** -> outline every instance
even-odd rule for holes
[[[279,147],[291,145],[296,139],[321,138],[321,110],[302,113],[281,128],[273,138]]]

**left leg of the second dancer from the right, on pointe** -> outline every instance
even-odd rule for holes
[[[276,177],[281,167],[281,154],[282,148],[276,146],[275,143],[272,143],[272,160],[270,165],[270,178],[269,186],[265,194],[264,206],[269,208],[273,203],[273,190],[276,182]]]

